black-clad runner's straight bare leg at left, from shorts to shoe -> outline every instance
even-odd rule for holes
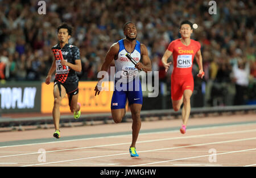
[[[61,96],[58,88],[58,84],[56,84],[53,88],[53,96],[54,96],[54,105],[52,109],[52,117],[55,125],[55,130],[59,130],[60,123],[60,103],[61,100],[65,97],[66,90],[63,85],[60,85],[61,88]]]

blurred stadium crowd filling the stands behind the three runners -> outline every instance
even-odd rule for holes
[[[69,43],[80,48],[80,80],[96,80],[111,44],[124,38],[127,21],[137,25],[137,39],[148,48],[152,70],[170,86],[171,70],[164,72],[162,55],[179,38],[179,23],[199,25],[192,39],[201,43],[205,106],[241,105],[256,100],[254,1],[217,1],[209,14],[209,1],[167,0],[51,0],[46,14],[38,1],[0,0],[0,79],[44,81],[51,67],[51,47],[57,43],[57,26],[73,26]],[[193,72],[197,72],[194,65]],[[204,83],[204,85],[203,85]]]

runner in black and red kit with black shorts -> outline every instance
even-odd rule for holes
[[[60,138],[60,103],[65,97],[65,94],[68,94],[69,107],[71,112],[74,113],[75,119],[81,115],[81,105],[77,103],[79,78],[76,72],[81,72],[82,67],[79,48],[68,43],[68,39],[72,35],[72,28],[64,23],[57,28],[57,32],[59,43],[52,47],[52,51],[57,57],[55,57],[49,69],[46,84],[48,85],[51,82],[52,74],[56,71],[53,88],[54,106],[52,109],[52,117],[55,125],[53,136]],[[60,53],[56,52],[59,49],[63,55],[63,60],[60,60]]]

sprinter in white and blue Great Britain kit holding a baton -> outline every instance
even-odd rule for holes
[[[133,119],[133,139],[129,148],[131,157],[139,156],[136,152],[136,141],[141,129],[141,108],[142,108],[142,88],[139,81],[138,71],[151,71],[151,61],[148,57],[146,45],[139,43],[137,29],[132,22],[123,25],[125,39],[112,44],[106,54],[105,62],[102,64],[101,71],[108,71],[110,64],[115,63],[115,88],[112,96],[111,111],[115,123],[122,121],[125,116],[125,106],[128,100],[131,117]],[[129,53],[137,64],[134,65],[127,57]],[[104,78],[104,77],[102,77]],[[102,78],[95,87],[95,96],[100,94]]]

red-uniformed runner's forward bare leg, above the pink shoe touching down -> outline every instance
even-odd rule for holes
[[[183,125],[187,126],[188,118],[191,111],[190,98],[192,96],[191,90],[184,90],[183,94],[183,108],[182,108],[182,121]]]

